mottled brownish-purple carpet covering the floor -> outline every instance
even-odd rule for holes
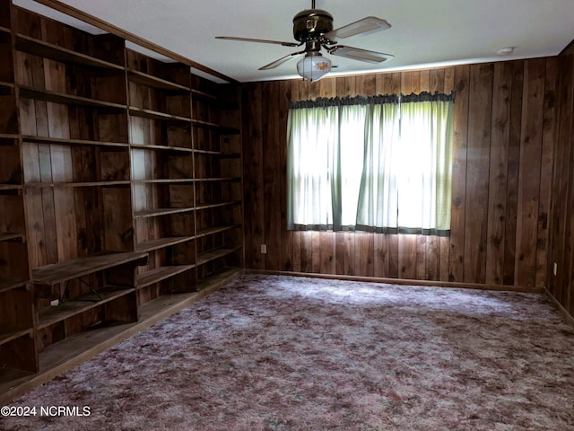
[[[544,295],[248,275],[12,404],[89,416],[0,428],[572,430],[573,349]]]

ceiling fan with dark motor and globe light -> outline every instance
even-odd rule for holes
[[[359,34],[368,34],[375,31],[383,31],[390,28],[390,24],[375,16],[367,16],[357,22],[352,22],[344,27],[333,30],[333,16],[331,13],[315,8],[315,0],[311,2],[311,9],[297,13],[293,18],[293,37],[298,42],[283,42],[280,40],[236,38],[231,36],[216,36],[215,39],[239,40],[244,42],[274,43],[283,47],[300,47],[305,49],[293,52],[275,60],[268,65],[259,67],[259,70],[273,69],[281,66],[291,58],[305,54],[297,63],[297,72],[304,79],[317,81],[331,71],[331,61],[321,55],[321,48],[325,48],[328,54],[338,57],[347,57],[368,63],[382,63],[393,58],[390,54],[370,51],[368,49],[352,48],[339,45],[338,39],[346,39]]]

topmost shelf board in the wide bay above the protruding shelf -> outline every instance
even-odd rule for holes
[[[59,47],[43,40],[37,40],[23,34],[16,35],[16,49],[27,52],[34,56],[46,57],[57,60],[62,63],[72,63],[80,66],[90,66],[99,69],[111,69],[123,71],[123,66],[118,66],[109,61],[101,60],[97,57],[91,57],[81,52],[75,52],[71,49]]]

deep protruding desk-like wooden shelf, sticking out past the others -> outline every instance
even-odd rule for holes
[[[101,252],[83,258],[69,259],[62,262],[32,269],[32,281],[36,284],[54,286],[57,283],[83,277],[103,269],[146,259],[147,253],[140,252]]]

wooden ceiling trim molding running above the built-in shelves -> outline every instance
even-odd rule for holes
[[[69,4],[65,4],[57,0],[35,0],[35,1],[36,3],[44,4],[45,6],[48,6],[58,12],[65,13],[66,15],[72,16],[80,21],[87,22],[88,24],[91,24],[94,27],[98,27],[103,31],[108,31],[109,33],[114,34],[117,37],[129,40],[130,42],[133,42],[136,45],[139,45],[143,48],[151,49],[152,51],[155,51],[158,54],[161,54],[162,56],[173,58],[175,61],[178,61],[179,63],[183,63],[184,65],[194,67],[197,70],[201,70],[206,74],[220,78],[224,81],[228,81],[231,84],[239,84],[239,81],[231,78],[230,76],[223,75],[220,72],[217,72],[216,70],[213,70],[207,66],[200,65],[199,63],[196,63],[195,61],[187,57],[181,56],[173,51],[170,51],[170,49],[162,48],[161,46],[149,40],[140,38],[139,36],[136,36],[135,34],[130,33],[129,31],[125,31],[113,24],[110,24],[109,22],[100,20],[100,18],[97,18],[91,15],[90,13],[85,13],[80,9],[76,9],[75,7],[70,6]]]

